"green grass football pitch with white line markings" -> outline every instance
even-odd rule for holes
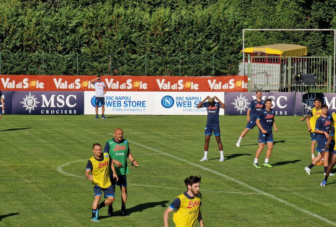
[[[29,116],[3,115],[0,120],[0,226],[163,226],[162,214],[185,191],[183,180],[202,176],[201,211],[205,226],[335,226],[336,177],[321,187],[323,167],[311,175],[307,127],[299,117],[277,116],[278,132],[269,163],[252,166],[258,130],[240,147],[237,139],[246,116],[220,116],[225,161],[211,138],[209,161],[203,157],[206,116]],[[93,190],[84,177],[92,144],[104,146],[114,128],[139,163],[130,168],[128,217],[90,222]],[[259,164],[265,158],[264,150]],[[119,214],[120,191],[115,213]],[[174,226],[172,214],[170,226]],[[199,226],[199,225],[197,225]]]

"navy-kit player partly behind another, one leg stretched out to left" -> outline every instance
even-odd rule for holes
[[[244,131],[240,134],[238,142],[236,143],[237,147],[240,147],[240,142],[245,134],[256,126],[255,121],[257,119],[257,114],[264,108],[265,101],[261,99],[261,91],[257,91],[255,94],[257,98],[252,100],[249,108],[247,109],[247,125]]]

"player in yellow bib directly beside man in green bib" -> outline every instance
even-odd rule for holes
[[[113,163],[108,154],[102,154],[101,145],[95,143],[92,146],[94,155],[87,161],[85,177],[92,181],[94,201],[92,203],[92,222],[99,222],[99,210],[105,206],[110,205],[114,201],[114,189],[111,185],[109,168],[113,171],[113,178],[118,180]],[[89,173],[92,173],[90,175]],[[98,202],[101,197],[101,190],[104,192],[104,201],[99,205]]]

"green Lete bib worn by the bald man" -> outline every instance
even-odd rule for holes
[[[110,145],[109,155],[112,159],[115,159],[123,164],[122,167],[116,168],[117,175],[125,175],[128,174],[128,166],[127,166],[127,152],[128,152],[128,141],[126,139],[122,139],[121,143],[116,143],[113,139],[108,141]],[[113,172],[110,167],[110,175],[112,175]]]

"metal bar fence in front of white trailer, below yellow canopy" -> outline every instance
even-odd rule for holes
[[[331,56],[283,57],[248,55],[239,64],[239,75],[247,75],[250,91],[334,92]],[[243,69],[244,68],[244,69]],[[316,85],[300,85],[298,74],[316,75]],[[299,87],[299,88],[298,88]]]

